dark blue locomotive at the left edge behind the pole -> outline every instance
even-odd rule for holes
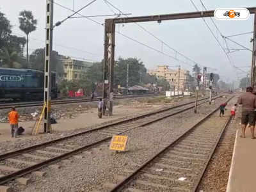
[[[57,98],[56,73],[52,72],[52,98]],[[0,67],[0,99],[42,100],[44,72]]]

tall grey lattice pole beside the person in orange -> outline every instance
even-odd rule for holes
[[[52,54],[53,0],[46,0],[46,35],[44,64],[44,132],[51,131],[51,54]]]

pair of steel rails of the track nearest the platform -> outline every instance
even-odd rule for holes
[[[227,102],[229,102],[233,97],[230,97],[230,99],[227,100]],[[212,116],[214,113],[216,113],[216,111],[218,111],[218,109],[220,109],[220,107],[214,109],[211,113],[209,113],[208,115],[206,115],[202,120],[200,120],[198,123],[196,123],[195,125],[193,125],[190,129],[188,129],[187,131],[183,132],[178,138],[176,138],[174,141],[172,141],[172,143],[170,143],[167,147],[164,147],[161,151],[157,152],[157,154],[155,154],[153,157],[151,157],[150,159],[148,159],[145,163],[143,163],[139,168],[137,168],[134,172],[130,173],[127,177],[125,177],[123,180],[121,180],[118,184],[116,184],[116,186],[110,190],[110,192],[116,192],[116,191],[120,191],[122,189],[125,188],[125,186],[129,185],[129,183],[134,179],[134,177],[136,177],[136,175],[138,175],[144,168],[146,168],[146,166],[148,166],[148,164],[152,163],[157,157],[161,156],[162,154],[164,154],[164,152],[166,152],[170,147],[173,147],[175,144],[179,143],[180,140],[182,140],[182,138],[186,137],[190,132],[192,132],[193,130],[196,129],[196,127],[198,127],[199,125],[201,125],[203,122],[205,122],[205,120],[207,120],[210,116]],[[214,144],[214,146],[212,147],[212,150],[207,158],[207,161],[205,161],[206,163],[204,164],[204,168],[202,170],[202,172],[200,173],[200,175],[197,177],[196,182],[195,182],[195,186],[193,186],[193,189],[191,191],[196,192],[198,189],[198,186],[200,184],[200,181],[202,179],[202,177],[204,176],[204,173],[207,169],[207,166],[211,160],[211,157],[213,156],[216,147],[221,139],[221,136],[223,136],[223,132],[225,132],[226,127],[230,124],[232,117],[229,116],[228,120],[225,122],[219,136],[218,139],[216,140],[216,143]],[[161,158],[161,157],[159,157]],[[136,180],[136,179],[134,179]],[[190,190],[188,190],[190,191]]]

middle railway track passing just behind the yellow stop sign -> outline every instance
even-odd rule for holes
[[[215,99],[218,97],[215,97]],[[208,102],[207,98],[200,99],[199,104],[204,104],[205,102]],[[131,129],[151,124],[193,108],[194,102],[188,102],[2,154],[0,155],[0,185],[95,147],[100,143],[110,140],[113,134],[122,134]],[[90,138],[95,138],[94,143],[86,143],[86,137],[89,136]]]

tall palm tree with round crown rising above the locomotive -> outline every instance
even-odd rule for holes
[[[27,35],[27,65],[28,65],[28,35],[32,31],[36,30],[37,20],[34,19],[34,16],[31,11],[22,11],[20,12],[19,17],[20,30],[22,30]]]

